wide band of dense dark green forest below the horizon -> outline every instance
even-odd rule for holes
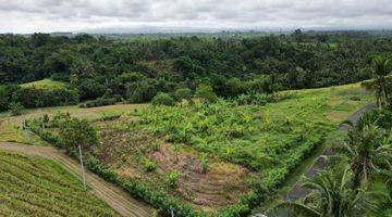
[[[0,110],[11,102],[148,102],[159,92],[174,95],[200,84],[223,98],[342,85],[370,78],[371,59],[391,51],[392,39],[356,31],[127,39],[1,35]],[[68,86],[49,93],[17,86],[42,78]]]

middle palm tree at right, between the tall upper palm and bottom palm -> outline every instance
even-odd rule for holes
[[[384,140],[376,122],[376,115],[366,114],[356,126],[351,124],[348,140],[342,145],[354,175],[354,189],[359,187],[362,180],[368,183],[371,173],[381,171],[384,165],[392,162],[392,146],[387,143],[389,140]]]

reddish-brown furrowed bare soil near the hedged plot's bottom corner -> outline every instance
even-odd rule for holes
[[[195,205],[226,206],[237,203],[238,195],[248,190],[244,178],[249,171],[238,165],[211,162],[204,173],[197,153],[174,152],[170,144],[162,144],[150,157],[158,162],[160,174],[180,171],[179,193]]]

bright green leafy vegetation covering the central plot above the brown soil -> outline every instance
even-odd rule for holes
[[[352,95],[363,99],[356,105],[344,104],[346,114],[370,102],[371,93],[365,97],[354,87],[248,93],[188,106],[149,106],[138,111],[138,116],[158,137],[244,165],[262,177],[258,184],[273,190],[336,129],[341,118],[329,115],[340,112],[338,105]],[[342,92],[346,92],[344,98]],[[329,101],[336,105],[327,104]]]

